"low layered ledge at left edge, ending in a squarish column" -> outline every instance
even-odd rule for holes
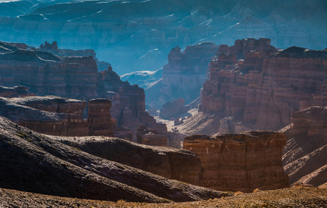
[[[110,116],[110,101],[89,101],[89,116],[83,119],[86,105],[85,101],[56,96],[1,98],[0,115],[47,135],[112,136],[115,121]]]

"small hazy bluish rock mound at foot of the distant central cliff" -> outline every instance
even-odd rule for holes
[[[190,107],[187,107],[184,104],[185,99],[183,98],[178,98],[172,102],[165,103],[162,105],[159,115],[162,119],[172,119],[181,116],[182,114],[186,114]]]

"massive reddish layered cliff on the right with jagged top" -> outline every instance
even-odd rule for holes
[[[243,130],[278,130],[290,124],[294,111],[326,105],[326,51],[293,46],[276,52],[267,39],[241,42],[221,46],[210,62],[201,111],[232,116]],[[244,53],[244,60],[237,60]]]

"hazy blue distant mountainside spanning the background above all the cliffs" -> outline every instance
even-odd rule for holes
[[[171,48],[205,41],[269,37],[283,49],[324,49],[326,6],[322,0],[17,1],[0,3],[0,39],[33,46],[55,40],[61,48],[94,49],[119,74],[154,71]]]

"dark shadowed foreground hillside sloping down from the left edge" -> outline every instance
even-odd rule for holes
[[[3,117],[0,123],[1,188],[139,202],[227,196],[90,155]]]

